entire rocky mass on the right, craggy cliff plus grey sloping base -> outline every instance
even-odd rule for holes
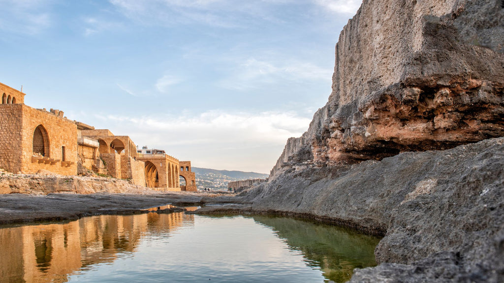
[[[384,235],[352,281],[501,282],[503,118],[504,2],[364,0],[328,103],[242,195]]]

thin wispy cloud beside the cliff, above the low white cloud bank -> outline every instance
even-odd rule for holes
[[[218,83],[226,89],[246,90],[272,83],[330,81],[332,69],[296,59],[283,62],[248,58],[237,64],[233,74]]]

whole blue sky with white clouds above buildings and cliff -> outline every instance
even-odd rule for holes
[[[195,167],[269,173],[326,104],[360,4],[0,0],[0,82]]]

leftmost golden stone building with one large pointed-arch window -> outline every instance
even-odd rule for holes
[[[0,84],[0,168],[77,175],[77,125],[59,110],[24,105],[24,93]]]

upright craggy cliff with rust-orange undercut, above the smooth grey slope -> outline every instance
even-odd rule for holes
[[[336,45],[329,102],[272,174],[503,136],[503,61],[501,0],[364,0]]]

